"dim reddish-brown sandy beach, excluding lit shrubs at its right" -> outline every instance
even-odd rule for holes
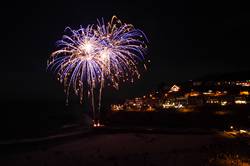
[[[215,135],[188,134],[101,134],[60,145],[4,154],[3,166],[82,165],[203,165],[204,148]]]

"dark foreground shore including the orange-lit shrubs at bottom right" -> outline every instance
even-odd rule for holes
[[[250,165],[249,141],[223,132],[95,130],[2,148],[3,166]],[[9,150],[6,147],[10,147]],[[16,147],[16,149],[15,149]]]

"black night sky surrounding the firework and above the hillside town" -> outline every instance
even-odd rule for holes
[[[151,64],[140,81],[111,96],[250,69],[250,13],[238,1],[9,1],[1,4],[0,15],[2,100],[64,99],[62,87],[46,72],[55,41],[66,26],[76,29],[112,15],[146,33]]]

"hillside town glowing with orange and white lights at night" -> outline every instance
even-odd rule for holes
[[[230,107],[250,104],[250,80],[188,81],[164,87],[142,97],[112,104],[111,111],[192,112],[204,106]]]

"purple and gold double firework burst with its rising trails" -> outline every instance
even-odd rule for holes
[[[140,78],[138,64],[145,62],[148,40],[141,30],[116,16],[107,24],[102,19],[78,30],[67,27],[65,32],[67,35],[56,42],[57,50],[51,54],[48,68],[64,85],[67,103],[71,88],[80,102],[84,97],[90,99],[95,124],[105,83],[118,89],[120,82]]]

